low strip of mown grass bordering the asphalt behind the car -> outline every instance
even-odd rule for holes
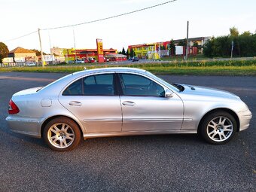
[[[84,65],[86,66],[86,65]],[[0,72],[65,72],[72,73],[84,70],[84,66],[45,66],[42,67],[12,67],[0,68]],[[87,66],[87,69],[96,69],[113,66]],[[120,67],[120,66],[115,66]],[[159,65],[144,64],[121,67],[135,67],[145,69],[159,75],[256,75],[256,65],[251,66],[186,66],[186,65]]]

